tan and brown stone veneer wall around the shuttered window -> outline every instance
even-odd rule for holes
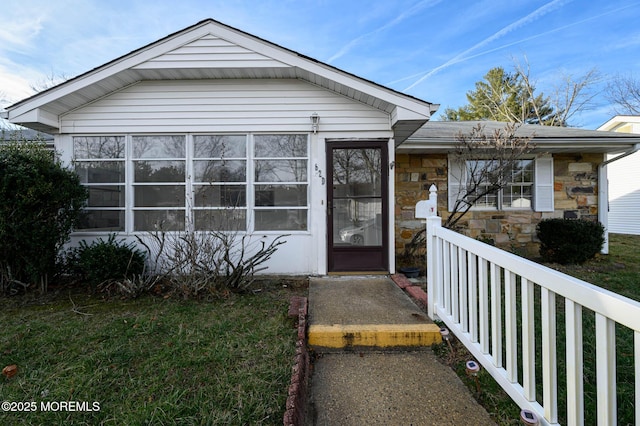
[[[602,154],[556,154],[554,212],[470,211],[460,222],[461,231],[472,238],[493,240],[495,245],[526,256],[537,256],[536,225],[551,217],[598,219],[598,164]],[[424,224],[414,217],[415,204],[438,188],[438,214],[446,218],[447,156],[397,154],[395,158],[395,250],[398,266],[408,266],[402,253]]]

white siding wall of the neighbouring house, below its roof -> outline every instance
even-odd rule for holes
[[[607,166],[609,232],[640,235],[640,153]]]

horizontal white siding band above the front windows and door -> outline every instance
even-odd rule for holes
[[[62,116],[61,133],[308,132],[313,112],[323,133],[390,136],[388,114],[299,80],[144,81]]]

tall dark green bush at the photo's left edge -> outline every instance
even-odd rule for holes
[[[10,137],[0,144],[0,293],[30,284],[45,290],[87,191],[44,144]]]

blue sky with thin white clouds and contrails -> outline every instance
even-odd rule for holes
[[[72,77],[206,18],[446,107],[489,69],[529,63],[552,93],[592,68],[599,87],[640,66],[640,1],[613,0],[4,0],[0,106],[46,76]],[[603,96],[571,124],[613,115]]]

